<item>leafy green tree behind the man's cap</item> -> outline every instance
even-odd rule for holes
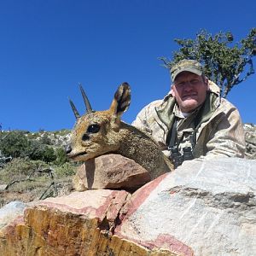
[[[230,90],[254,73],[253,57],[256,55],[256,28],[251,29],[246,38],[233,44],[231,32],[218,32],[215,36],[201,30],[193,39],[175,39],[180,49],[173,53],[173,60],[161,57],[165,67],[183,59],[200,61],[204,73],[218,84],[221,96],[226,97]]]

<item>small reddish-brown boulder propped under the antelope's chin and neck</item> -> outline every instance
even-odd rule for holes
[[[73,178],[73,188],[125,189],[135,191],[150,181],[150,175],[143,166],[120,154],[105,154],[87,160],[79,166]]]

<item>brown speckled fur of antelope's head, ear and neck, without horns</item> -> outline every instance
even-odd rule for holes
[[[157,143],[143,131],[120,120],[130,101],[130,86],[124,83],[116,91],[108,110],[89,112],[80,117],[73,128],[67,155],[73,160],[86,161],[102,154],[121,154],[143,166],[152,178],[170,172],[172,163]],[[99,131],[90,132],[90,125],[99,125]]]

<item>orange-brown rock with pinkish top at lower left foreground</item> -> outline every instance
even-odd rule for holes
[[[39,201],[1,230],[1,255],[192,255],[163,249],[159,241],[147,247],[113,235],[130,197],[124,190],[98,189]]]

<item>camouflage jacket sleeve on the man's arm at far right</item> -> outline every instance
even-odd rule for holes
[[[224,104],[224,108],[228,108],[228,111],[225,111],[217,124],[214,124],[215,127],[212,127],[205,158],[244,157],[246,145],[240,114],[233,105],[230,107]]]

